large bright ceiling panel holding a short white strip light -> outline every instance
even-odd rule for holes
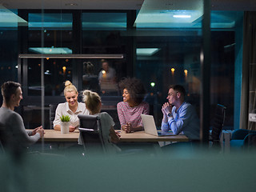
[[[198,22],[201,23],[202,0],[174,2],[166,5],[166,0],[145,0],[134,26],[138,28],[195,27]]]

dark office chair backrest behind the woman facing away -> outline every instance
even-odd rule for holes
[[[78,118],[80,121],[78,129],[86,153],[85,155],[105,154],[106,149],[98,115],[78,114]]]

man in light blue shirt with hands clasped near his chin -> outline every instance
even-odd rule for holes
[[[183,86],[170,86],[168,102],[162,106],[162,131],[172,130],[174,134],[185,134],[191,140],[198,140],[199,119],[194,107],[184,102],[186,91]]]

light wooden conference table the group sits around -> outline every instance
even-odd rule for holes
[[[145,131],[126,134],[123,130],[116,130],[121,135],[119,142],[189,142],[186,135],[154,136]],[[44,142],[78,142],[79,131],[62,134],[58,130],[45,130]],[[41,139],[42,140],[42,139]]]

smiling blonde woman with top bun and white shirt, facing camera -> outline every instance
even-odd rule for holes
[[[86,109],[86,104],[78,102],[78,90],[70,82],[65,82],[64,96],[66,102],[60,103],[57,106],[54,118],[54,130],[61,130],[61,117],[62,115],[70,116],[70,132],[73,132],[79,126],[78,114],[89,114]]]

